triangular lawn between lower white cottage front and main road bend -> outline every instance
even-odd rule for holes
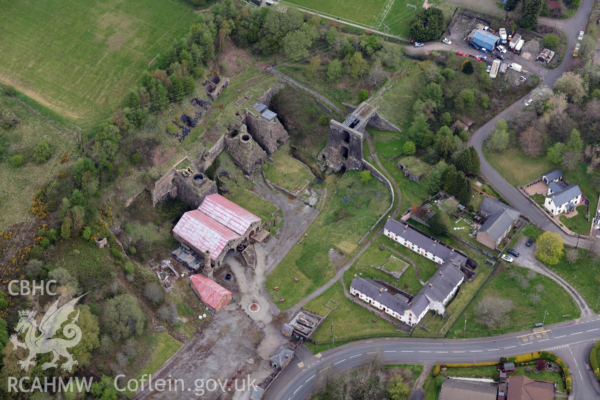
[[[395,325],[392,325],[386,320],[378,317],[374,312],[368,309],[362,308],[358,304],[352,302],[344,296],[344,288],[341,280],[335,282],[322,294],[310,300],[304,309],[311,312],[316,312],[319,315],[326,315],[329,308],[325,306],[329,300],[335,300],[340,303],[334,311],[331,311],[329,316],[325,318],[325,321],[321,324],[319,329],[314,332],[311,339],[316,342],[329,341],[331,340],[331,323],[333,322],[333,331],[335,333],[335,345],[338,341],[341,344],[346,341],[346,338],[361,335],[373,335],[373,334],[386,334],[390,336],[397,336]],[[329,305],[335,306],[334,303],[329,302]],[[377,322],[371,320],[376,319]],[[331,348],[332,343],[329,342],[324,345],[319,345],[319,351]],[[316,350],[313,345],[311,348]]]

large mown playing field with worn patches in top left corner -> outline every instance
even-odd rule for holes
[[[0,82],[69,118],[106,115],[196,19],[183,0],[6,0]]]

